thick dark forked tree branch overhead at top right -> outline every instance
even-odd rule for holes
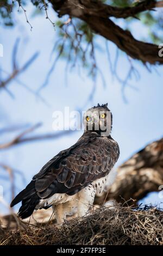
[[[52,0],[53,8],[59,16],[70,15],[85,21],[93,31],[104,38],[114,42],[118,48],[126,52],[131,58],[141,60],[143,63],[163,64],[159,56],[159,47],[136,40],[129,31],[115,25],[108,17],[133,16],[143,10],[151,10],[160,6],[155,1],[144,1],[133,8],[114,8],[99,1],[79,0]]]

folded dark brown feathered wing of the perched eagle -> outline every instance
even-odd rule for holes
[[[62,151],[58,159],[51,160],[34,176],[36,192],[40,198],[54,193],[75,194],[107,175],[118,156],[118,145],[113,139],[92,136],[81,140],[75,147]]]

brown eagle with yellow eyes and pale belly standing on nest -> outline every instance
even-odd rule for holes
[[[35,209],[53,206],[58,223],[67,215],[84,216],[113,181],[112,167],[120,155],[111,137],[112,114],[108,104],[97,105],[83,117],[84,133],[72,147],[61,151],[34,175],[32,181],[12,201],[22,202],[18,216],[22,219]]]

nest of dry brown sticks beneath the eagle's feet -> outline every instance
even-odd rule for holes
[[[16,231],[0,228],[0,245],[163,245],[163,211],[156,208],[117,205],[59,228],[53,221],[20,225]]]

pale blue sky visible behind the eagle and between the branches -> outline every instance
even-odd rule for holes
[[[4,57],[0,58],[1,67],[11,71],[12,48],[17,38],[21,39],[18,49],[18,63],[23,65],[36,51],[39,51],[39,57],[23,72],[18,79],[33,90],[37,90],[45,80],[46,74],[51,68],[55,53],[51,57],[51,52],[55,41],[57,40],[57,30],[54,31],[51,23],[42,15],[32,17],[32,6],[27,6],[27,14],[33,26],[33,31],[26,23],[22,13],[15,16],[17,26],[14,28],[0,28],[0,43],[4,46]],[[49,15],[53,17],[54,13],[49,10]],[[123,22],[122,22],[123,26]],[[137,23],[134,25],[136,38],[142,35],[138,32]],[[142,26],[142,31],[143,31]],[[134,32],[134,29],[133,29]],[[99,36],[98,44],[104,48],[105,41]],[[111,58],[115,56],[115,46],[109,44]],[[70,110],[82,109],[97,105],[97,103],[106,103],[113,114],[112,137],[120,145],[121,155],[117,166],[127,160],[137,150],[143,148],[149,142],[162,137],[162,108],[163,108],[163,68],[157,68],[160,75],[155,71],[149,72],[139,62],[134,62],[140,72],[140,80],[134,79],[130,83],[137,88],[134,90],[126,87],[125,96],[128,103],[124,102],[122,97],[121,84],[112,80],[109,63],[105,51],[97,51],[97,62],[103,71],[106,81],[106,88],[103,88],[101,77],[97,78],[97,89],[92,101],[87,102],[93,82],[86,72],[83,72],[82,78],[79,77],[76,69],[68,74],[67,86],[65,84],[65,61],[59,60],[53,74],[49,80],[48,86],[43,88],[41,95],[49,103],[46,106],[35,95],[28,92],[20,84],[12,81],[9,84],[10,91],[15,95],[12,99],[4,90],[0,92],[0,127],[14,124],[36,124],[42,122],[43,125],[34,133],[55,132],[52,130],[54,111],[64,111],[64,107],[69,106]],[[126,56],[120,56],[117,71],[120,77],[125,77],[128,71],[128,60]],[[84,106],[85,105],[85,106]],[[41,141],[35,143],[21,144],[1,151],[1,161],[21,170],[25,181],[16,174],[16,192],[19,192],[32,176],[39,172],[40,168],[49,159],[51,159],[60,150],[70,147],[77,141],[83,131],[71,133],[70,136],[64,136],[51,141]],[[9,141],[17,133],[10,133],[0,138],[0,142]],[[10,185],[8,175],[3,172],[5,179],[0,180],[4,187],[5,199],[10,201]],[[157,203],[159,197],[152,193],[146,198],[146,203]],[[2,205],[1,205],[2,206]],[[1,208],[3,212],[7,209]]]

